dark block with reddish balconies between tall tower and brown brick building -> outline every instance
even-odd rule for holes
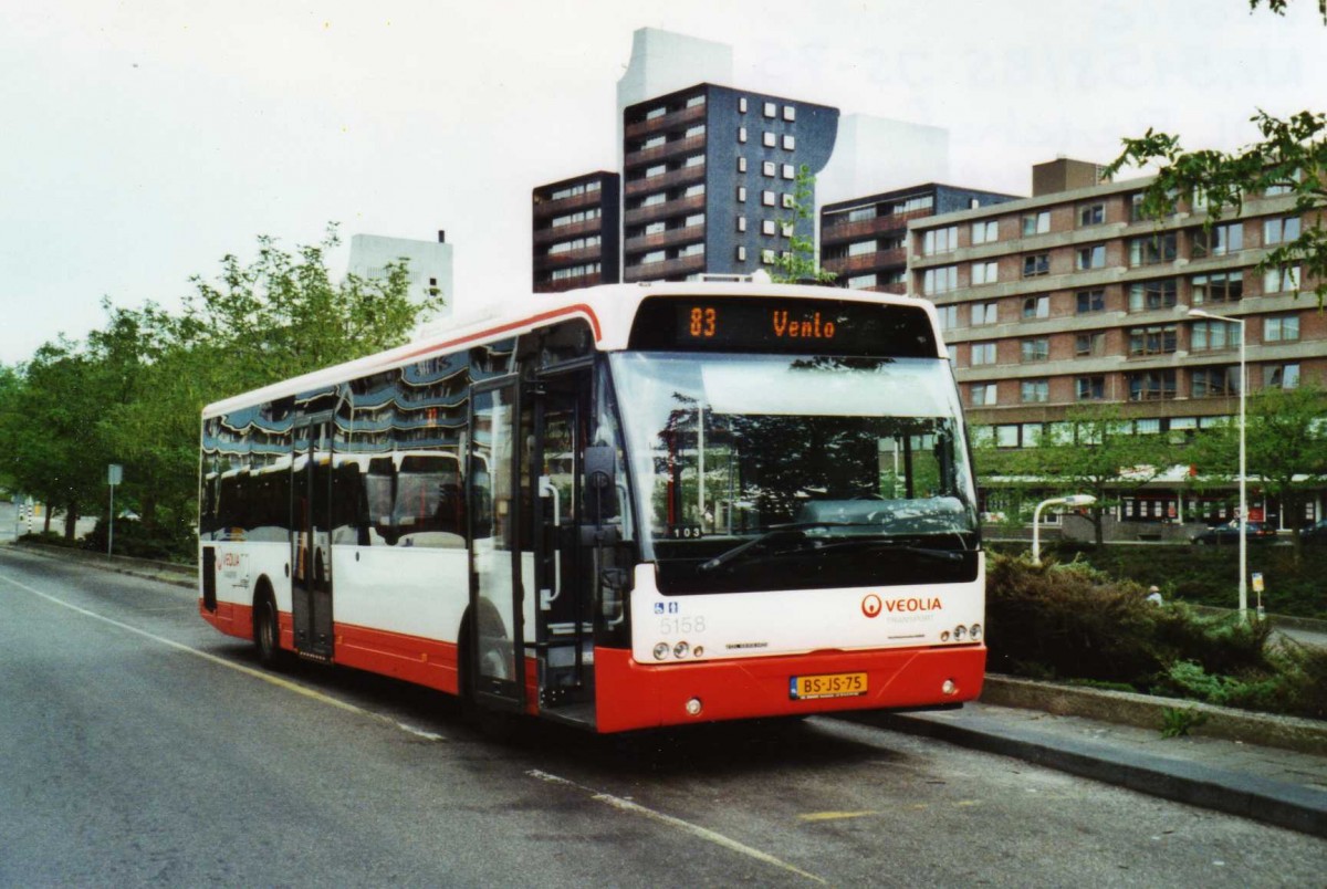
[[[840,287],[908,292],[908,224],[987,207],[1015,195],[936,183],[825,204],[820,211],[820,264]]]

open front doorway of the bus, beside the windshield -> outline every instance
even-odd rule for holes
[[[587,544],[583,499],[589,381],[588,370],[549,374],[528,390],[527,422],[533,435],[523,476],[533,503],[540,710],[593,724],[593,552]]]

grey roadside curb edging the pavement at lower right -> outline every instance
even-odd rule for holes
[[[1010,726],[982,730],[949,722],[941,713],[878,714],[860,720],[1327,839],[1327,793],[1296,784],[1084,740],[1048,743],[1036,732]]]

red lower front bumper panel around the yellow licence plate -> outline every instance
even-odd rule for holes
[[[594,650],[600,731],[790,717],[836,710],[918,707],[973,701],[982,691],[986,646],[823,651],[701,663],[645,665],[622,649]],[[852,697],[794,699],[794,677],[867,674]],[[946,681],[954,693],[945,694]],[[697,715],[687,703],[699,701]]]

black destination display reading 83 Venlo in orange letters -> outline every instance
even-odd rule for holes
[[[921,309],[848,300],[656,297],[641,307],[632,348],[936,357]]]

